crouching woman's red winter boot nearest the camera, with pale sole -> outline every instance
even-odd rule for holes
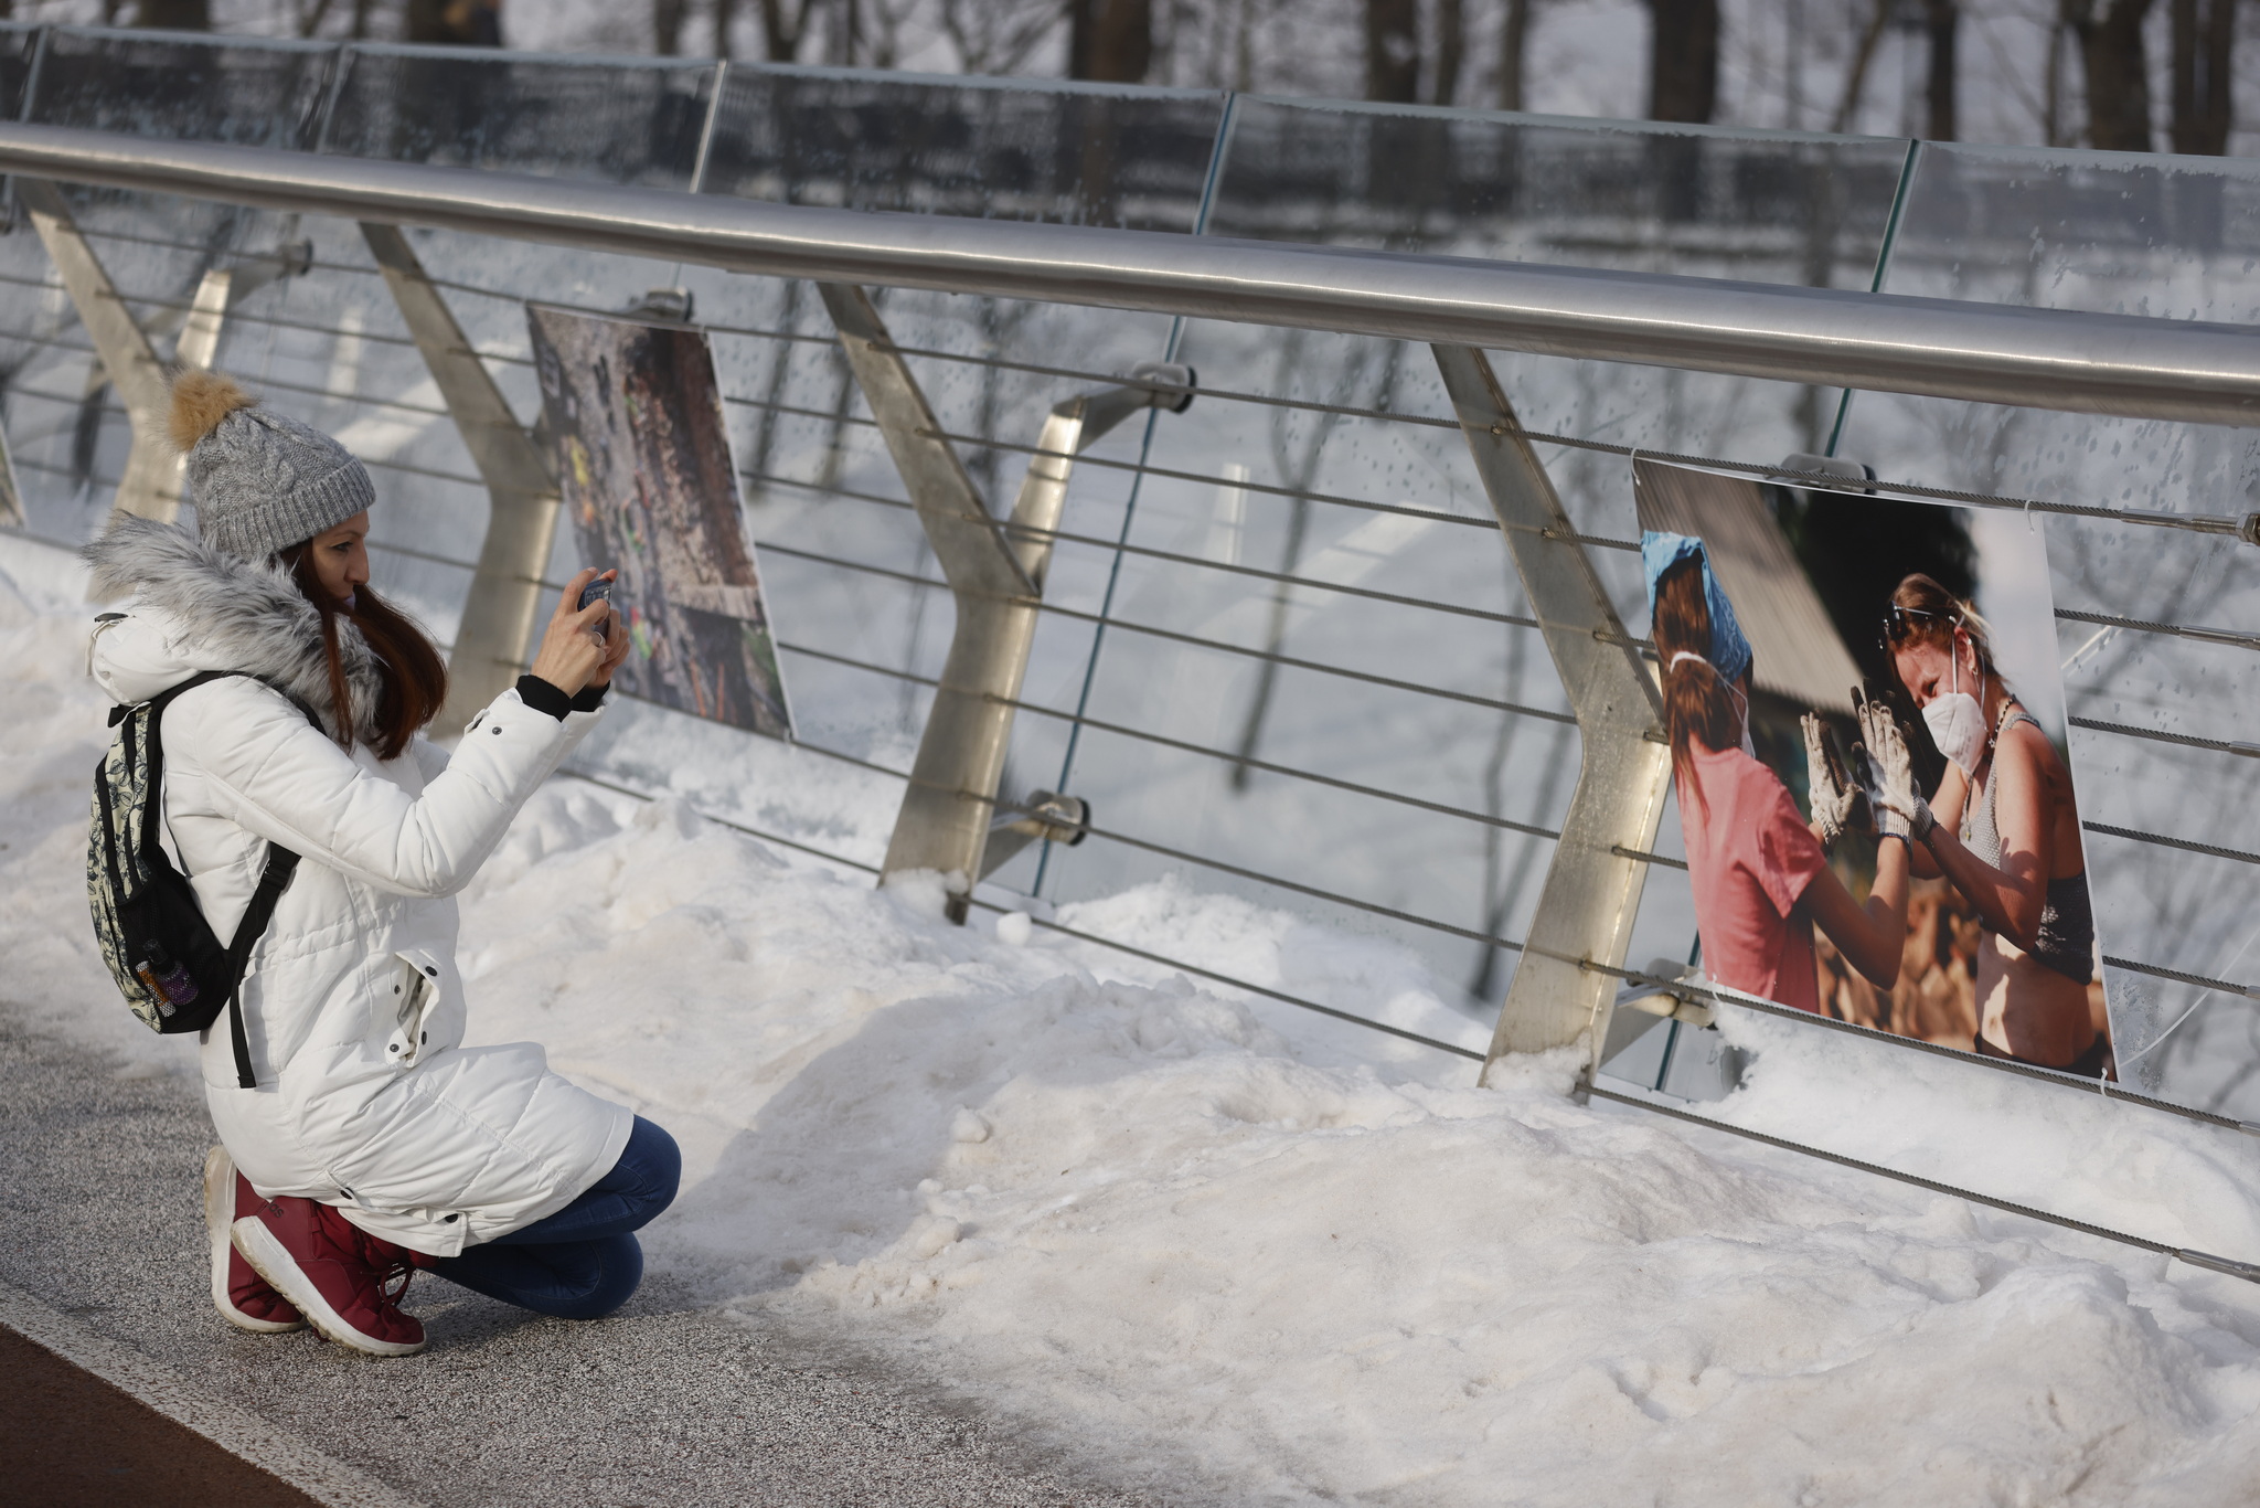
[[[235,1250],[339,1345],[368,1357],[414,1357],[423,1323],[400,1314],[409,1253],[312,1198],[267,1198],[235,1221]]]

